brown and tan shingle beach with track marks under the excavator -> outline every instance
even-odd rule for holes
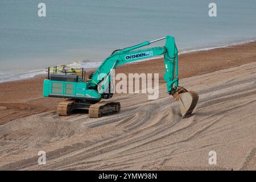
[[[63,99],[42,97],[43,77],[0,84],[0,169],[256,169],[255,42],[179,55],[180,85],[199,93],[186,119],[166,93],[162,59],[119,72],[159,73],[158,100],[116,94],[119,114],[59,117]]]

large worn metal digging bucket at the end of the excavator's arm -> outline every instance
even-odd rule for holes
[[[195,109],[199,96],[196,92],[189,91],[184,88],[176,88],[176,92],[172,94],[174,100],[180,106],[180,113],[183,118],[189,117]]]

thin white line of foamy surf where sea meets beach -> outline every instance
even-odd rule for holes
[[[230,42],[229,44],[227,45],[224,45],[224,46],[212,46],[212,47],[204,47],[204,48],[198,48],[198,49],[192,49],[190,51],[181,51],[179,52],[178,55],[184,55],[184,54],[187,54],[187,53],[193,53],[193,52],[201,52],[201,51],[210,51],[210,50],[214,50],[214,49],[218,49],[218,48],[226,48],[226,47],[234,47],[234,46],[242,46],[242,45],[245,45],[245,44],[250,44],[250,43],[255,43],[256,40],[244,40],[244,41],[237,41],[237,42]],[[127,64],[135,64],[135,63],[141,63],[141,62],[144,62],[144,61],[149,61],[149,60],[157,60],[157,59],[162,59],[163,56],[158,56],[158,57],[151,57],[149,59],[143,59],[143,60],[138,60],[138,61],[135,61],[133,63],[127,63]],[[82,61],[82,60],[81,60]],[[79,61],[77,61],[79,62]],[[76,62],[73,62],[73,63],[69,63],[67,65],[71,65],[71,64],[74,64]],[[93,70],[96,70],[97,67],[92,67],[92,68],[84,68],[85,71],[93,71]],[[40,70],[40,71],[39,71]],[[38,69],[35,69],[35,72],[38,71],[38,72],[43,72],[43,68],[38,68]],[[26,73],[27,74],[27,73]],[[26,75],[24,74],[24,75]],[[5,82],[12,82],[12,81],[20,81],[20,80],[26,80],[26,79],[31,79],[31,78],[35,78],[35,77],[42,77],[44,75],[47,75],[47,74],[42,74],[42,73],[39,73],[39,74],[36,74],[32,77],[27,77],[27,78],[15,78],[14,80],[9,80],[9,81],[0,81],[0,84],[2,83],[5,83]]]

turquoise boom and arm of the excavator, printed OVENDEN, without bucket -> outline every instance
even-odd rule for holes
[[[166,44],[163,47],[138,49],[163,39],[166,39]],[[103,61],[103,63],[94,73],[90,83],[96,85],[99,84],[104,79],[105,75],[108,75],[113,68],[117,68],[120,65],[142,59],[148,59],[150,57],[164,55],[164,68],[166,71],[164,80],[167,82],[167,92],[170,92],[173,88],[172,85],[175,84],[175,86],[178,86],[179,81],[177,78],[177,53],[178,51],[176,48],[175,40],[172,36],[166,36],[151,42],[146,41],[136,46],[119,49]]]

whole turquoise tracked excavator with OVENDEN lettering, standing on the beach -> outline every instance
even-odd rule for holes
[[[166,39],[163,47],[138,49],[163,39]],[[113,51],[88,79],[85,79],[84,68],[71,68],[65,65],[49,67],[48,77],[43,84],[43,96],[67,98],[57,105],[59,115],[70,115],[75,109],[88,110],[89,117],[92,118],[118,113],[121,109],[119,102],[101,101],[113,96],[110,92],[113,69],[122,64],[163,55],[167,93],[179,104],[181,116],[189,117],[199,96],[196,92],[188,92],[179,86],[177,53],[174,37],[166,36]]]

